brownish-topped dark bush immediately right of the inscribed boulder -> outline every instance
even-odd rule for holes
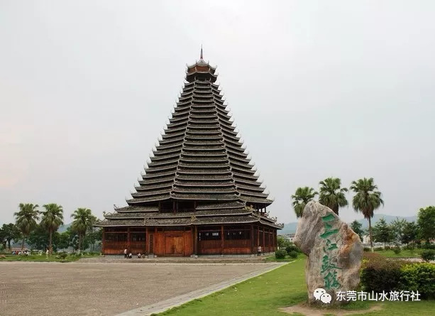
[[[382,293],[397,290],[400,282],[400,268],[404,261],[388,260],[380,254],[364,254],[363,270],[361,271],[361,284],[366,292],[372,290]]]

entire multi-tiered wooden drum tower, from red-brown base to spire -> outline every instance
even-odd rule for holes
[[[277,248],[277,219],[202,58],[187,66],[170,123],[128,206],[105,213],[103,253],[253,254]]]

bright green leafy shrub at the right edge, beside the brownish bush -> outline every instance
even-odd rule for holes
[[[422,298],[435,298],[435,265],[431,263],[413,263],[400,269],[400,288],[416,292]]]

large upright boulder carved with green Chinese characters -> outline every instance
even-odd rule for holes
[[[363,246],[359,236],[341,222],[329,207],[319,202],[309,202],[299,219],[296,244],[308,256],[305,267],[310,304],[324,305],[316,289],[331,295],[331,304],[345,303],[337,300],[338,291],[355,290],[360,282]]]

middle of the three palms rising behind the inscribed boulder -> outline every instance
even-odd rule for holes
[[[320,181],[319,185],[319,202],[338,215],[338,208],[348,205],[348,200],[344,195],[345,192],[348,192],[348,189],[341,187],[340,178],[326,178]]]

